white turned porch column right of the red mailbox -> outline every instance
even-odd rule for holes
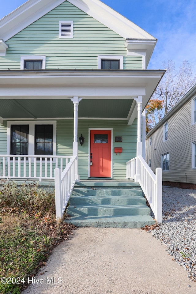
[[[137,137],[137,152],[136,152],[136,174],[135,174],[135,182],[138,183],[139,175],[140,175],[140,167],[138,156],[142,156],[142,141],[141,141],[141,111],[142,111],[142,96],[138,96],[134,98],[138,104],[138,137]]]

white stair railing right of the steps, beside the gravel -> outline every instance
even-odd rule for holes
[[[145,194],[146,199],[155,215],[158,223],[162,222],[162,169],[156,168],[156,175],[145,162],[142,156],[135,157],[127,161],[126,164],[132,166],[131,172],[126,175],[126,178],[133,179],[133,173],[136,174],[136,165],[134,160],[138,160],[139,164],[139,179],[138,182]],[[134,169],[134,171],[132,170]],[[128,167],[128,172],[130,167]]]

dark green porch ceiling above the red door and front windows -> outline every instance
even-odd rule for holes
[[[126,119],[132,102],[132,99],[83,99],[78,117]],[[4,119],[73,118],[74,107],[70,99],[2,99],[0,116]]]

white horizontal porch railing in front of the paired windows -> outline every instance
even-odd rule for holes
[[[0,154],[0,178],[2,179],[55,179],[55,168],[61,172],[73,156],[2,155]]]

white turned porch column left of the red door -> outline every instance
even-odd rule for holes
[[[77,142],[77,119],[78,119],[78,104],[82,100],[82,98],[78,98],[78,96],[74,96],[70,98],[74,103],[74,141],[73,141],[73,156],[76,156],[76,181],[80,181],[80,176],[78,175],[78,142]]]

